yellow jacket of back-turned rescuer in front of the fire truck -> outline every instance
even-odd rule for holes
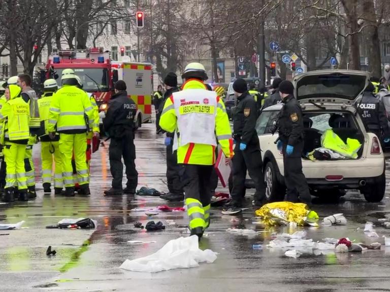
[[[64,85],[50,103],[48,132],[85,133],[93,128],[93,108],[87,93],[76,86]]]

